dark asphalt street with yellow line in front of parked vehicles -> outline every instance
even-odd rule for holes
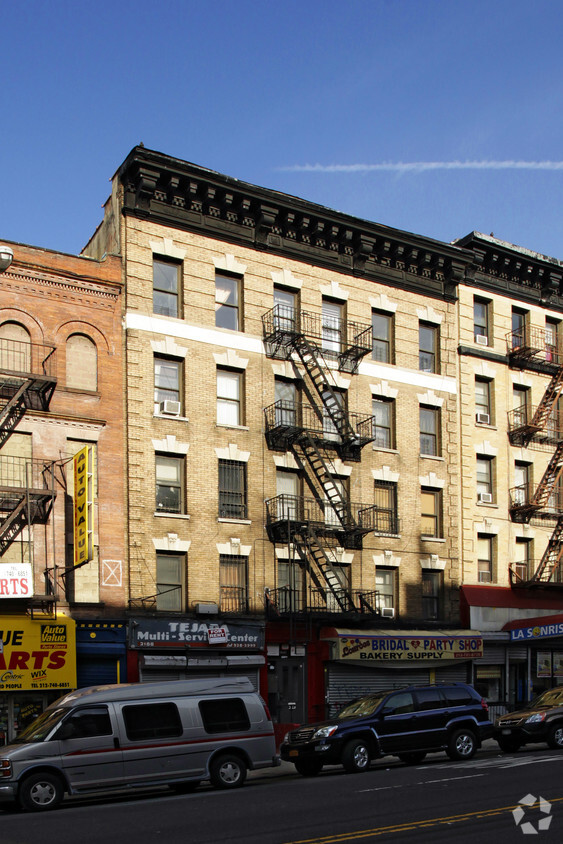
[[[0,810],[1,840],[449,844],[455,839],[456,844],[503,844],[537,834],[541,844],[547,844],[563,840],[562,778],[563,753],[537,745],[501,754],[489,741],[469,762],[431,754],[409,767],[387,758],[366,774],[332,768],[310,779],[286,764],[255,772],[242,789],[230,792],[202,785],[194,794],[180,796],[162,788],[71,799],[58,811],[44,814]],[[549,802],[529,806],[529,795]]]

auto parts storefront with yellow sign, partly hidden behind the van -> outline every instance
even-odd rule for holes
[[[73,619],[2,615],[0,745],[8,744],[49,703],[76,688]]]

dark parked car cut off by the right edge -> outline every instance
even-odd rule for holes
[[[534,742],[563,748],[563,686],[543,692],[518,712],[501,715],[493,737],[507,753]]]

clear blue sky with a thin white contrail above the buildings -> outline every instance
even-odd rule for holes
[[[142,141],[563,259],[560,0],[27,0],[1,28],[0,240],[79,252]]]

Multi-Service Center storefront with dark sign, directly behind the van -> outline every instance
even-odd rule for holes
[[[264,624],[135,618],[129,648],[131,681],[240,676],[258,691],[265,665]]]

